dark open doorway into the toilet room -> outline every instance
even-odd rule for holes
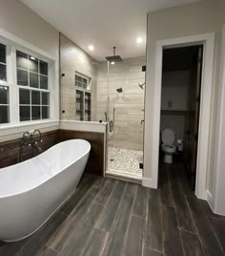
[[[195,190],[204,45],[163,49],[159,175],[184,170]],[[182,168],[183,167],[183,168]],[[166,175],[166,174],[165,174]],[[180,174],[181,176],[183,174]]]

